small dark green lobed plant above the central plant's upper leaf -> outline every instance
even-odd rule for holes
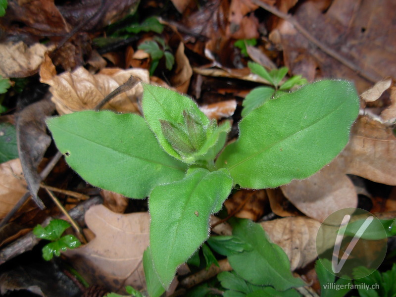
[[[166,69],[172,70],[173,64],[175,63],[175,57],[170,51],[170,47],[165,44],[165,41],[162,38],[154,36],[154,40],[144,42],[139,45],[138,49],[143,49],[151,56],[150,75],[153,75],[159,64],[159,60],[162,57],[165,57]]]

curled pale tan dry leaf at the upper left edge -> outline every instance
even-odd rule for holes
[[[23,42],[0,44],[0,75],[2,77],[26,77],[35,74],[44,61],[44,54],[55,46],[34,44],[28,47]]]

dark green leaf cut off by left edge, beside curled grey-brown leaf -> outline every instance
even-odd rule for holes
[[[16,130],[14,125],[0,123],[0,163],[18,158]]]

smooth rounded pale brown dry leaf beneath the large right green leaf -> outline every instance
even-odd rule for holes
[[[281,189],[302,213],[320,222],[334,211],[357,206],[355,187],[343,170],[333,163],[307,179],[294,180]]]

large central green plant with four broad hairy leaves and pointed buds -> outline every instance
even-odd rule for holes
[[[144,118],[82,111],[47,124],[85,180],[127,197],[149,196],[145,269],[163,288],[205,242],[209,217],[233,186],[273,188],[314,174],[345,147],[359,110],[349,82],[319,81],[249,112],[239,123],[238,140],[223,149],[228,122],[218,126],[178,93],[143,87]]]

